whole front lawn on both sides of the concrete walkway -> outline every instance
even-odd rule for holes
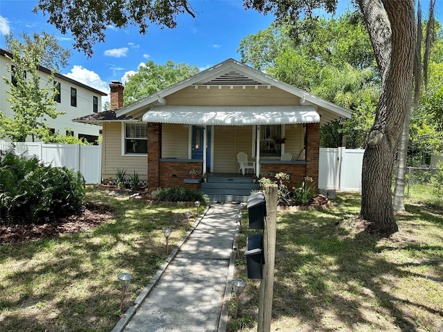
[[[74,234],[0,244],[0,331],[111,331],[117,275],[134,275],[125,311],[165,261],[161,230],[172,228],[173,247],[195,221],[195,208],[91,189],[87,200],[111,205],[114,216]],[[271,331],[443,331],[442,211],[406,205],[400,231],[379,239],[354,223],[359,203],[359,194],[338,193],[328,210],[278,215]],[[230,303],[230,332],[255,331],[260,284],[244,270],[246,220],[234,277],[248,285],[237,320]]]

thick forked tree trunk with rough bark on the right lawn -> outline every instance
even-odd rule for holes
[[[399,133],[411,102],[415,10],[413,0],[382,2],[392,31],[390,43],[384,35],[388,31],[386,15],[379,1],[359,0],[382,76],[379,105],[363,156],[359,217],[370,221],[378,232],[389,235],[398,230],[392,208],[392,169]],[[380,35],[385,37],[380,39]],[[383,50],[390,52],[388,59]]]

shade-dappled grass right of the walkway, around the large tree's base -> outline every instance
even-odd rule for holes
[[[329,210],[278,214],[271,331],[443,331],[441,210],[406,204],[400,231],[381,239],[354,221],[359,204],[339,193]],[[260,282],[242,251],[234,277],[248,285],[230,332],[256,331]]]

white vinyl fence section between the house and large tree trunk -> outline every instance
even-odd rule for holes
[[[364,149],[320,148],[318,189],[361,191]]]

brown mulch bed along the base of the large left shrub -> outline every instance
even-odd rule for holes
[[[114,210],[102,203],[86,203],[82,213],[56,219],[48,223],[27,225],[0,225],[0,243],[23,243],[60,234],[90,230],[108,221]]]

